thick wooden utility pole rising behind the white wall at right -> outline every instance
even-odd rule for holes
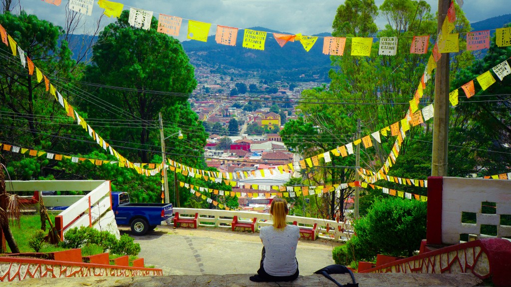
[[[438,0],[437,35],[447,16],[451,0]],[[444,35],[446,36],[446,35]],[[447,143],[449,139],[449,53],[436,62],[433,116],[433,154],[431,176],[447,176]]]

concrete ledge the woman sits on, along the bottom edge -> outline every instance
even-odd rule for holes
[[[161,277],[74,277],[74,278],[33,278],[20,282],[3,282],[2,287],[291,287],[322,286],[336,287],[332,281],[322,275],[300,276],[293,282],[252,282],[248,279],[253,274],[227,275],[171,275]],[[339,283],[351,282],[347,274],[333,274]],[[472,274],[401,274],[401,273],[356,273],[355,279],[363,287],[469,287],[484,286],[481,279]]]

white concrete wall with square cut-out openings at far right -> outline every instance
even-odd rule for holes
[[[463,233],[511,238],[511,226],[500,225],[511,216],[511,181],[444,177],[442,189],[442,243],[458,244]],[[496,203],[496,214],[481,213],[483,202]],[[476,224],[461,223],[462,212],[476,213]],[[481,224],[497,226],[497,236],[481,235]]]

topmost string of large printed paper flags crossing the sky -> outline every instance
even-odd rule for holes
[[[59,6],[60,0],[44,0],[47,3]],[[459,5],[459,1],[458,5]],[[93,0],[69,0],[69,9],[88,15],[92,14]],[[124,9],[122,3],[111,2],[107,0],[99,0],[98,5],[104,9],[104,14],[108,17],[119,17]],[[128,22],[131,26],[149,30],[153,11],[144,10],[135,7],[129,7]],[[461,6],[460,6],[461,7]],[[179,36],[182,20],[188,20],[187,38],[196,41],[207,41],[207,36],[211,30],[212,23],[201,22],[191,19],[185,19],[178,16],[159,14],[157,31],[170,36]],[[459,52],[459,34],[450,32],[454,30],[454,21],[456,20],[454,1],[448,10],[448,15],[442,33],[438,35],[438,45],[435,44],[434,50],[436,54]],[[216,25],[215,41],[218,44],[235,46],[239,30],[244,30],[242,46],[247,49],[261,50],[265,49],[267,32],[251,29],[240,29],[235,27]],[[371,47],[373,45],[373,37],[318,37],[305,36],[301,34],[281,34],[272,33],[276,42],[283,47],[288,42],[299,41],[303,45],[304,50],[309,52],[312,46],[317,42],[318,38],[323,38],[323,54],[326,55],[344,55],[344,47],[346,39],[351,39],[352,56],[370,56]],[[442,36],[443,35],[443,36]],[[499,47],[511,45],[511,28],[496,29],[497,45]],[[426,54],[428,44],[432,38],[431,35],[413,36],[410,53]],[[398,50],[399,37],[381,37],[379,44],[379,55],[396,56]],[[487,49],[490,46],[490,30],[469,32],[466,35],[467,50],[475,51]]]

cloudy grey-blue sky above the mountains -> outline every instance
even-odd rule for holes
[[[45,3],[41,0],[19,0],[20,5],[30,14],[49,20],[63,26],[65,21],[64,6],[67,0],[62,0],[60,7]],[[313,35],[322,32],[332,32],[332,21],[336,9],[344,0],[114,0],[123,3],[124,9],[136,7],[154,11],[154,16],[167,14],[214,25],[224,25],[237,28],[265,27],[288,33]],[[437,10],[437,0],[426,0],[431,5],[431,12]],[[375,0],[380,6],[383,0]],[[464,0],[463,11],[470,22],[484,20],[503,14],[511,13],[510,0]],[[103,13],[96,4],[92,16],[84,16],[85,30],[90,29]],[[104,25],[114,21],[106,18]],[[379,27],[385,25],[382,18],[377,19]],[[183,20],[180,40],[185,39],[187,21]],[[83,29],[82,29],[83,30]],[[214,33],[213,26],[210,33]],[[85,31],[87,32],[87,31]],[[83,33],[83,31],[79,32]]]

